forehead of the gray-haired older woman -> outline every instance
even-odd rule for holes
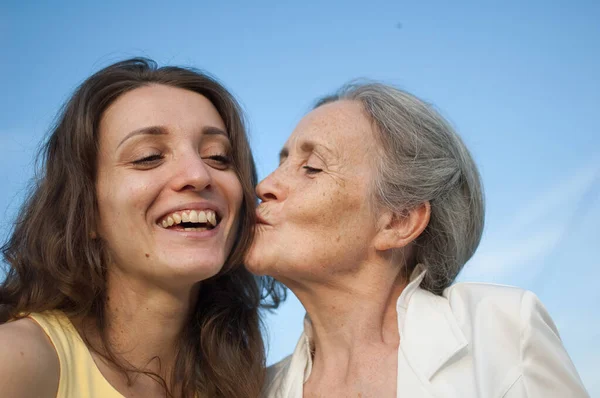
[[[335,101],[307,114],[296,126],[285,147],[322,146],[340,157],[375,149],[373,125],[358,101]],[[309,144],[309,145],[307,145]]]

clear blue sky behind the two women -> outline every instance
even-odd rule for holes
[[[60,105],[109,63],[216,75],[247,111],[261,177],[316,97],[383,80],[436,104],[481,168],[486,230],[459,279],[537,293],[600,396],[600,3],[50,3],[0,6],[0,237]],[[302,317],[293,298],[268,317],[269,362],[292,351]]]

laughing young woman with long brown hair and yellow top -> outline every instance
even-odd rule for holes
[[[42,161],[3,246],[0,395],[255,398],[255,173],[231,94],[191,69],[111,65]]]

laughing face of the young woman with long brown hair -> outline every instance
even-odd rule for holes
[[[120,96],[99,128],[98,235],[110,267],[156,284],[219,272],[237,235],[242,187],[213,104],[149,85]]]

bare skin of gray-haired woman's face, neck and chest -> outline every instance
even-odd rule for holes
[[[397,297],[398,270],[382,251],[400,247],[394,231],[401,228],[372,206],[374,134],[359,103],[321,106],[300,121],[280,166],[257,187],[264,223],[246,265],[286,284],[310,314],[315,352],[304,397],[396,396],[395,307],[382,309],[379,295]]]

